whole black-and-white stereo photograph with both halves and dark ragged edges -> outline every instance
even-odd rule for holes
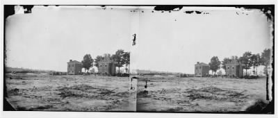
[[[274,5],[5,5],[3,110],[274,114]]]

